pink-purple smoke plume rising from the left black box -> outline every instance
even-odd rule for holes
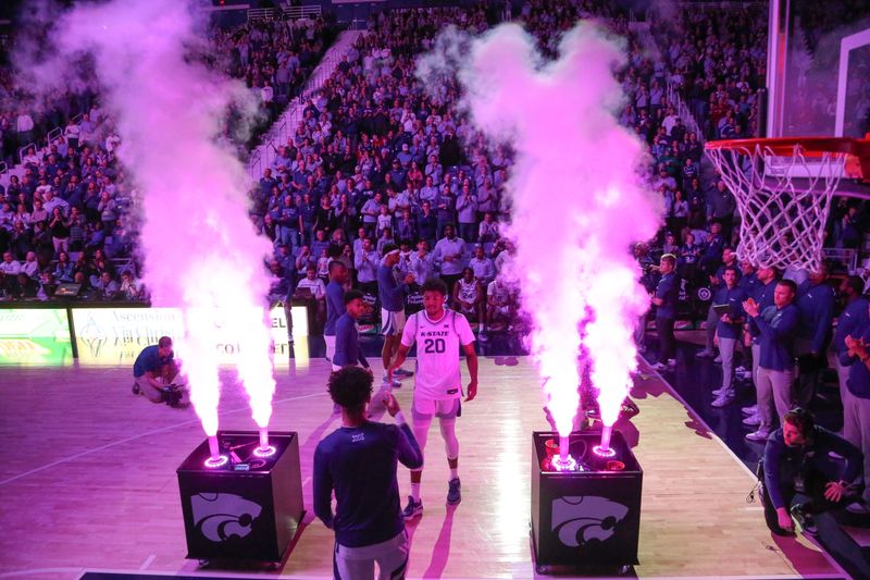
[[[210,70],[204,13],[181,0],[114,0],[55,14],[50,60],[37,78],[70,81],[89,55],[101,103],[122,138],[119,158],[141,206],[145,280],[154,306],[182,308],[176,338],[191,402],[208,435],[217,430],[215,324],[243,345],[238,374],[257,424],[271,417],[275,388],[265,323],[269,242],[248,218],[244,166],[220,140],[229,107],[252,106],[245,86]]]

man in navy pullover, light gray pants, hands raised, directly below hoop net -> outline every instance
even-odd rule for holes
[[[794,379],[794,334],[799,323],[799,311],[793,304],[797,286],[782,280],[773,291],[773,306],[765,308],[749,298],[743,309],[749,317],[749,331],[760,337],[756,391],[758,430],[746,435],[749,441],[767,441],[773,430],[774,410],[782,418],[792,408]]]

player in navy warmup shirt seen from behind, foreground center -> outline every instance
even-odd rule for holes
[[[341,427],[314,451],[314,514],[335,531],[335,578],[405,578],[408,534],[399,506],[398,462],[417,469],[423,454],[396,398],[384,405],[397,424],[369,421],[372,375],[345,367],[330,377],[330,396],[341,408]],[[336,509],[332,510],[335,493]]]

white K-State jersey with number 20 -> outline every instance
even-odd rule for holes
[[[417,342],[415,395],[432,399],[462,396],[459,373],[459,347],[474,342],[469,321],[453,310],[445,310],[437,322],[425,310],[409,317],[401,344],[411,347]]]

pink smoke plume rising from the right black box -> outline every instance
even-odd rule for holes
[[[449,36],[452,35],[453,38]],[[502,25],[470,44],[448,33],[420,62],[421,76],[456,69],[463,104],[490,141],[511,144],[507,195],[512,272],[531,314],[532,354],[561,435],[579,407],[579,357],[592,363],[605,424],[612,424],[636,370],[632,334],[649,298],[629,254],[651,237],[661,201],[644,186],[646,148],[617,123],[614,70],[622,44],[581,22],[544,62],[535,40]]]

